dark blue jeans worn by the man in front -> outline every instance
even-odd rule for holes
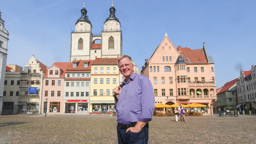
[[[126,133],[127,128],[116,126],[118,144],[148,144],[148,123],[140,130],[140,132]]]

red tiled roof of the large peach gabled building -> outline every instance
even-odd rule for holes
[[[180,54],[187,64],[208,64],[204,50],[202,48],[196,50],[191,50],[190,48],[181,48]]]

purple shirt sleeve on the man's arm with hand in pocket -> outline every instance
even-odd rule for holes
[[[141,91],[141,113],[138,120],[150,121],[155,108],[155,97],[152,84],[147,77],[142,80]]]

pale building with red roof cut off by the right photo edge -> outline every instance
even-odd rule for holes
[[[237,80],[238,108],[246,113],[250,111],[255,114],[256,104],[256,66],[252,65],[251,70],[240,70],[240,78]]]

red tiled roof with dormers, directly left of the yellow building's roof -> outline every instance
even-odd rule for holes
[[[76,68],[73,68],[73,63],[76,62],[77,66]],[[84,68],[84,62],[88,62],[88,67]],[[68,66],[67,70],[91,70],[91,65],[94,62],[94,60],[76,60],[70,62],[70,65]]]

